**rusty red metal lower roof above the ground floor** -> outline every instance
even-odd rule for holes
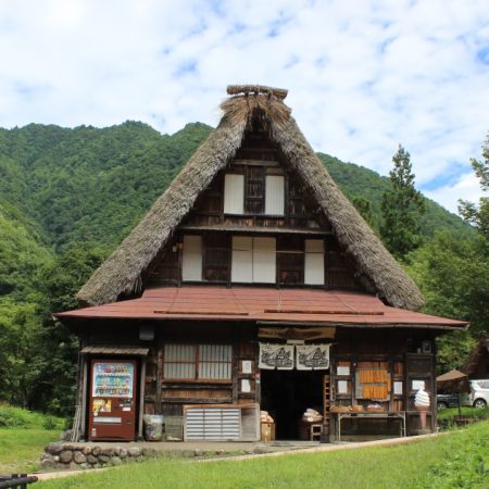
[[[465,327],[466,322],[389,308],[375,296],[318,289],[161,287],[141,298],[55,314],[60,319],[226,319],[360,326]]]

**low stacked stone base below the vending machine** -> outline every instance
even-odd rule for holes
[[[101,448],[73,443],[50,443],[41,456],[41,468],[75,469],[101,468],[121,465],[125,462],[142,461],[154,457],[155,450],[130,447]]]

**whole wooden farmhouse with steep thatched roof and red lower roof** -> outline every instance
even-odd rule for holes
[[[285,104],[228,87],[218,127],[57,314],[80,338],[83,439],[414,435],[436,429],[438,335],[415,284],[341,193]],[[308,425],[306,410],[319,413]],[[310,429],[311,428],[311,429]]]

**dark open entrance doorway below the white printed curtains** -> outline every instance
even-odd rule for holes
[[[299,439],[308,408],[323,414],[324,375],[324,371],[262,371],[261,408],[274,418],[278,440]]]

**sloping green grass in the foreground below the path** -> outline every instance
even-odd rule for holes
[[[489,422],[389,448],[248,461],[155,460],[50,480],[39,488],[487,488]]]

